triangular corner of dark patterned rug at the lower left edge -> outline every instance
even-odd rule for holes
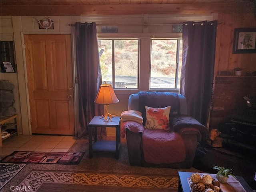
[[[26,164],[1,163],[1,185],[0,189],[5,186]]]

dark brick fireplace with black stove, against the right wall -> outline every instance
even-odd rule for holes
[[[214,76],[209,129],[221,132],[223,148],[255,154],[256,106],[244,98],[255,90],[256,76]]]

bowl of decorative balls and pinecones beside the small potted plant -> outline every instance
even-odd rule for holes
[[[192,173],[188,183],[191,192],[223,192],[220,189],[220,182],[209,174]]]

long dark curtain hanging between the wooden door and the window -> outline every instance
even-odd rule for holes
[[[104,114],[103,105],[94,103],[102,84],[96,23],[76,22],[76,67],[78,77],[78,138],[88,138],[88,123]],[[98,128],[99,139],[106,128]]]

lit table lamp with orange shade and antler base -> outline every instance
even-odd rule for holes
[[[107,84],[105,81],[105,84],[100,85],[100,90],[99,90],[94,102],[98,103],[98,104],[104,104],[105,114],[102,115],[102,118],[104,118],[103,121],[106,120],[108,122],[108,117],[109,117],[109,120],[112,121],[111,120],[112,116],[117,116],[117,115],[110,114],[107,109],[107,106],[109,104],[114,104],[114,103],[119,102],[111,84]]]

